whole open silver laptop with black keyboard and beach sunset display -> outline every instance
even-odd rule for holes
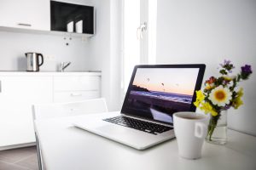
[[[175,137],[172,114],[195,111],[206,65],[136,65],[120,112],[74,122],[90,133],[145,150]]]

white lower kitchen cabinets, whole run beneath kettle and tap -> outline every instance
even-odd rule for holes
[[[100,72],[1,72],[0,150],[35,142],[32,105],[101,97]]]

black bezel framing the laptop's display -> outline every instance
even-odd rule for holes
[[[129,83],[129,87],[127,89],[127,92],[125,94],[125,100],[124,100],[124,104],[123,104],[122,110],[121,110],[122,114],[125,114],[127,116],[136,116],[138,118],[143,118],[143,119],[147,119],[147,120],[154,121],[154,122],[161,122],[161,123],[172,125],[172,123],[162,122],[162,121],[150,119],[148,117],[139,116],[139,114],[136,111],[130,111],[127,108],[128,98],[129,98],[129,94],[131,92],[131,87],[132,87],[131,85],[134,81],[134,77],[136,75],[136,72],[137,72],[138,68],[181,68],[181,69],[182,68],[198,68],[199,71],[198,71],[198,76],[197,76],[197,80],[196,80],[196,83],[195,83],[195,90],[194,90],[192,102],[191,102],[190,109],[189,109],[189,111],[194,111],[195,112],[196,107],[195,107],[195,105],[193,105],[193,102],[195,102],[195,99],[196,99],[195,91],[201,89],[202,80],[203,80],[204,73],[205,73],[205,70],[206,70],[206,65],[204,65],[204,64],[193,64],[193,65],[136,65],[133,69],[133,72],[132,72],[132,75],[131,75],[131,81]]]

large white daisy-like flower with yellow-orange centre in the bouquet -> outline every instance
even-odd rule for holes
[[[211,99],[213,105],[224,106],[230,104],[231,95],[229,88],[218,86],[212,89],[209,99]]]

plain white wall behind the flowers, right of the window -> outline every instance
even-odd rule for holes
[[[231,59],[256,70],[256,1],[158,0],[158,64],[205,63],[205,79]],[[244,105],[230,110],[229,127],[256,135],[256,75],[242,82]]]

